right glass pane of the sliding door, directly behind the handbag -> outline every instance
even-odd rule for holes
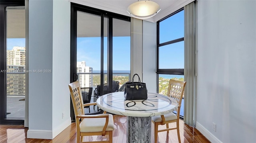
[[[113,80],[119,82],[119,88],[130,80],[130,31],[130,21],[113,18],[112,75]]]

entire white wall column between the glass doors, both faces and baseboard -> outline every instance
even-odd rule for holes
[[[29,70],[51,72],[29,73],[27,137],[53,139],[71,123],[70,2],[30,0],[28,31]]]

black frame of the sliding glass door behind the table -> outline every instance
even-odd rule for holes
[[[124,20],[130,22],[131,18],[128,16],[123,16],[121,14],[116,14],[113,12],[108,12],[105,10],[100,10],[97,8],[92,8],[89,6],[84,6],[81,4],[76,4],[71,2],[71,20],[70,20],[70,82],[76,81],[77,75],[77,63],[74,62],[74,59],[77,59],[77,12],[85,12],[88,14],[93,14],[96,16],[101,17],[101,51],[100,51],[100,85],[101,86],[101,93],[103,93],[103,85],[104,85],[104,18],[108,18],[108,74],[107,74],[107,83],[112,83],[113,80],[113,18]],[[74,75],[76,74],[76,75]],[[112,89],[112,84],[109,84],[108,89]],[[70,102],[70,116],[71,120],[74,121],[74,110],[72,106],[72,102]]]

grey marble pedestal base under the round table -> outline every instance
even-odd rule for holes
[[[127,116],[126,143],[150,143],[151,117]]]

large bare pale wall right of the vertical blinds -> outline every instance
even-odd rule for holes
[[[198,0],[197,39],[196,128],[212,142],[255,143],[256,1]]]

